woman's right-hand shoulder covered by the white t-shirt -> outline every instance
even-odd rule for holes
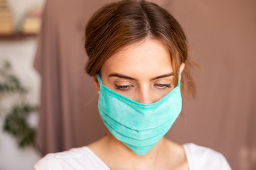
[[[220,152],[193,143],[184,144],[183,147],[191,169],[231,169]]]

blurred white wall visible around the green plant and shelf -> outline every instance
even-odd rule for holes
[[[26,11],[33,6],[43,4],[43,0],[7,0],[13,13],[14,24],[17,27]],[[11,62],[14,73],[21,83],[28,87],[28,102],[39,103],[40,77],[33,68],[33,60],[36,52],[36,38],[21,38],[18,40],[1,40],[0,38],[0,62],[7,59]],[[0,108],[8,109],[15,98],[1,96]],[[40,159],[40,154],[33,147],[19,149],[14,137],[3,132],[4,115],[0,114],[0,170],[28,170]],[[31,125],[37,125],[37,114],[33,114],[29,120]]]

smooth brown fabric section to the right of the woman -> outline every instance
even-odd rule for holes
[[[183,103],[167,136],[216,149],[233,169],[256,169],[255,7],[256,1],[231,0],[169,5],[202,71],[193,74],[195,100]]]

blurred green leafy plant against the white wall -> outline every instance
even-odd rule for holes
[[[31,113],[37,111],[37,106],[31,106],[26,102],[24,96],[28,94],[28,89],[12,73],[11,64],[7,61],[0,66],[0,94],[1,96],[4,94],[19,96],[18,102],[4,114],[3,130],[16,138],[19,147],[34,146],[36,130],[28,124],[27,120]]]

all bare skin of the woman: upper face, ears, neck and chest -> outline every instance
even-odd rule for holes
[[[182,63],[181,73],[184,67]],[[107,59],[101,68],[101,79],[109,89],[139,103],[149,104],[159,101],[174,89],[172,72],[166,46],[159,40],[148,38],[127,45]],[[100,93],[96,77],[94,82]],[[110,169],[188,169],[183,147],[165,137],[142,156],[135,154],[110,132],[88,147]]]

